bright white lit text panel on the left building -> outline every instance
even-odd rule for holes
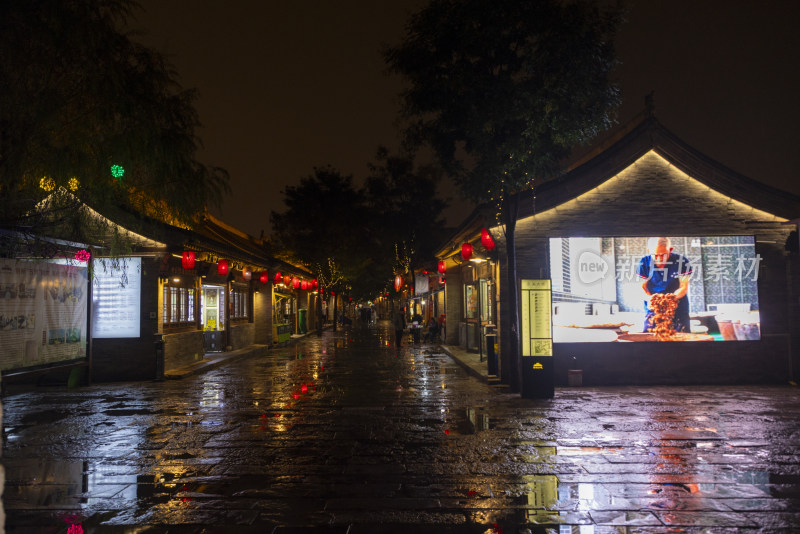
[[[142,259],[93,260],[92,336],[139,337]]]

